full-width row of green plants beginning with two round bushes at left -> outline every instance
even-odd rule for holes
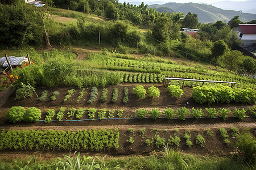
[[[205,113],[202,111],[202,109],[196,109],[192,108],[190,111],[188,108],[182,107],[176,109],[167,108],[164,109],[162,112],[157,109],[157,108],[152,108],[151,111],[148,111],[146,109],[137,109],[135,111],[135,117],[139,118],[142,120],[143,118],[150,117],[152,120],[156,120],[157,118],[166,118],[166,119],[171,119],[171,118],[180,118],[180,120],[185,120],[186,117],[192,116],[194,118],[201,118],[203,116],[209,117],[209,118],[214,118],[217,116],[220,116],[225,120],[225,118],[228,115],[231,115],[233,113],[233,116],[236,116],[240,120],[242,120],[244,117],[246,117],[246,110],[245,109],[233,109],[231,111],[228,108],[219,108],[217,111],[215,108],[205,108]],[[247,109],[247,113],[249,113],[251,116],[254,118],[256,108],[249,108]],[[29,114],[28,114],[29,113]],[[16,123],[16,122],[35,122],[39,121],[41,118],[42,111],[39,108],[31,107],[28,109],[24,109],[23,107],[12,107],[9,109],[6,115],[6,121]],[[66,116],[64,116],[66,115]],[[131,116],[131,114],[129,114]],[[76,118],[77,120],[80,120],[83,116],[88,117],[90,120],[96,120],[98,118],[99,120],[103,120],[105,118],[123,118],[123,110],[119,109],[118,111],[115,110],[110,110],[107,111],[105,108],[104,109],[96,109],[96,108],[89,108],[89,109],[84,109],[84,108],[71,108],[71,109],[66,109],[65,107],[61,107],[58,109],[58,111],[55,111],[55,109],[47,109],[46,111],[46,118],[44,119],[44,122],[49,123],[52,122],[53,120],[61,121],[63,118],[65,120],[69,119],[72,120],[73,118]]]

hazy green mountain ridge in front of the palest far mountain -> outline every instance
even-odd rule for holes
[[[212,5],[199,4],[199,3],[165,3],[163,5],[150,5],[148,8],[159,8],[159,7],[168,7],[174,10],[175,12],[183,12],[184,16],[188,12],[196,13],[199,18],[200,23],[214,23],[217,20],[222,20],[223,22],[228,22],[234,16],[239,15],[242,22],[249,22],[256,19],[256,14],[243,13],[234,10],[222,10],[221,8],[214,7]],[[255,7],[255,6],[253,6]]]

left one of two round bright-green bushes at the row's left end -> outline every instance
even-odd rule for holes
[[[11,107],[7,112],[5,120],[12,122],[13,124],[15,124],[16,122],[21,122],[23,120],[25,112],[26,111],[23,107]]]

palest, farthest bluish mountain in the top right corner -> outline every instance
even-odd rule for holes
[[[224,10],[236,10],[256,14],[256,1],[243,1],[243,2],[234,2],[234,1],[220,1],[211,3],[213,6],[222,8]]]

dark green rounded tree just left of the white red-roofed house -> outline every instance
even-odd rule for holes
[[[226,50],[228,49],[228,45],[223,40],[218,40],[213,42],[212,47],[212,58],[214,58],[214,62],[217,61],[217,59],[222,56]]]

